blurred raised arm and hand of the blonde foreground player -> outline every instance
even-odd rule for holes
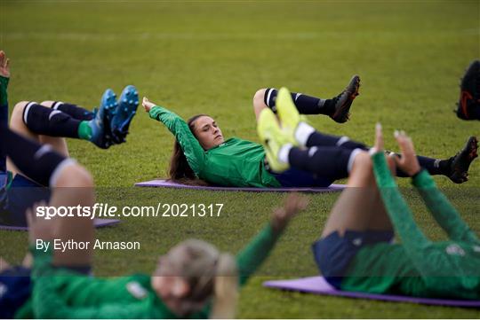
[[[284,200],[283,207],[277,207],[273,211],[272,220],[263,230],[252,238],[250,243],[236,255],[236,265],[240,285],[244,285],[255,270],[268,257],[276,245],[276,240],[284,231],[286,225],[294,215],[305,209],[308,205],[308,199],[299,194],[292,193]]]

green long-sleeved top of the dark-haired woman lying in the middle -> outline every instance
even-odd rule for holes
[[[157,105],[150,109],[149,114],[150,118],[163,122],[177,138],[188,165],[198,178],[225,186],[281,186],[265,168],[265,152],[260,144],[233,137],[204,151],[180,116]]]

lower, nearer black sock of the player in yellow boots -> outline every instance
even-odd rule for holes
[[[293,168],[336,180],[348,177],[353,165],[352,153],[359,151],[324,146],[313,146],[307,150],[293,147],[288,154],[288,161]]]

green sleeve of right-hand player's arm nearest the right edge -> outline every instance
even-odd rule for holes
[[[436,222],[447,232],[449,238],[453,241],[464,241],[471,244],[480,243],[475,232],[468,227],[455,207],[438,190],[427,170],[421,170],[413,178],[412,183],[420,192],[421,198]]]

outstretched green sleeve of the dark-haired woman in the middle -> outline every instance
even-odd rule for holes
[[[188,165],[195,172],[196,176],[202,171],[205,162],[204,148],[200,145],[188,124],[183,121],[176,113],[172,113],[163,106],[154,106],[149,112],[150,118],[161,121],[172,132],[173,136],[179,142]]]

